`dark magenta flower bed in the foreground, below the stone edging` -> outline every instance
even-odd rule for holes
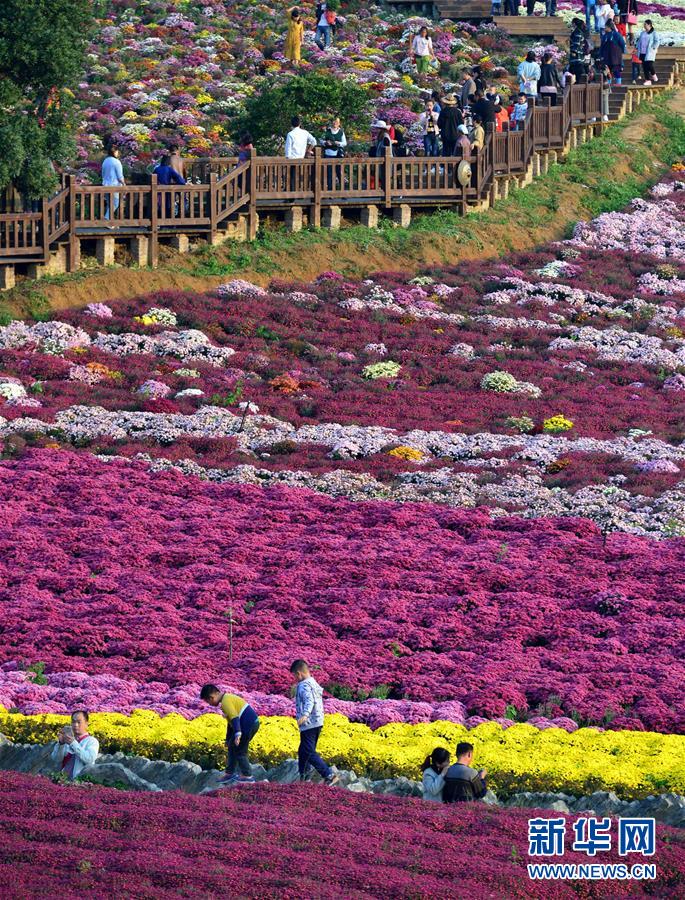
[[[13,900],[443,898],[455,885],[469,900],[578,896],[577,885],[529,881],[524,810],[311,785],[253,785],[214,797],[123,794],[7,772],[0,793],[0,893]],[[563,861],[588,862],[571,851],[571,834],[569,824]],[[684,849],[682,832],[659,827],[650,859],[657,880],[644,888],[612,883],[611,896],[682,896]],[[602,863],[623,861],[615,850],[601,854]],[[585,884],[583,896],[607,896],[605,882]]]

